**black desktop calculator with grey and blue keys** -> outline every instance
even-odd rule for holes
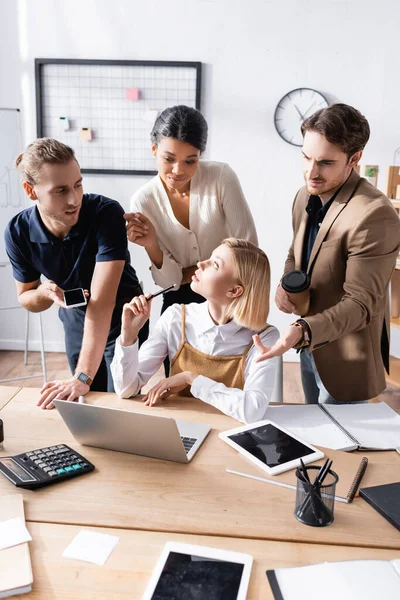
[[[0,458],[0,473],[17,487],[28,490],[84,475],[93,469],[92,463],[65,444]]]

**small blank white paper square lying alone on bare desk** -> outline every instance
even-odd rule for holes
[[[76,558],[104,565],[119,542],[119,537],[82,529],[63,552],[66,558]]]

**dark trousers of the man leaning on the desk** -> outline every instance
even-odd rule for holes
[[[58,316],[64,327],[65,350],[68,358],[69,368],[74,374],[82,347],[83,327],[85,324],[85,310],[79,308],[59,308]],[[114,308],[110,332],[108,334],[104,355],[99,369],[93,379],[90,389],[93,392],[114,392],[114,382],[111,375],[110,365],[114,357],[115,340],[121,333],[122,306]],[[149,322],[139,332],[139,346],[145,342],[149,335]]]

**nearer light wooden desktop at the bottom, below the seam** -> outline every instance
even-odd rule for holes
[[[317,544],[293,544],[240,538],[129,531],[90,527],[91,531],[120,537],[120,541],[100,567],[62,553],[81,527],[27,523],[30,542],[33,591],[26,600],[73,598],[74,600],[139,600],[167,541],[213,546],[253,556],[248,600],[273,600],[265,571],[323,561],[400,558],[400,552]],[[86,529],[86,528],[85,528]]]

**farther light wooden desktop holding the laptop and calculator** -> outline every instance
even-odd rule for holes
[[[8,433],[2,455],[65,442],[97,470],[65,484],[23,491],[30,521],[400,549],[398,531],[361,498],[349,505],[336,503],[333,525],[312,528],[294,518],[292,490],[226,473],[235,453],[218,439],[218,432],[236,422],[194,399],[170,400],[164,405],[168,408],[151,409],[110,394],[88,398],[96,404],[210,423],[213,430],[185,465],[79,446],[57,411],[36,407],[37,398],[37,389],[23,388],[3,409]],[[369,454],[374,462],[378,453]],[[389,468],[400,469],[398,458]],[[0,479],[0,494],[13,490]]]

